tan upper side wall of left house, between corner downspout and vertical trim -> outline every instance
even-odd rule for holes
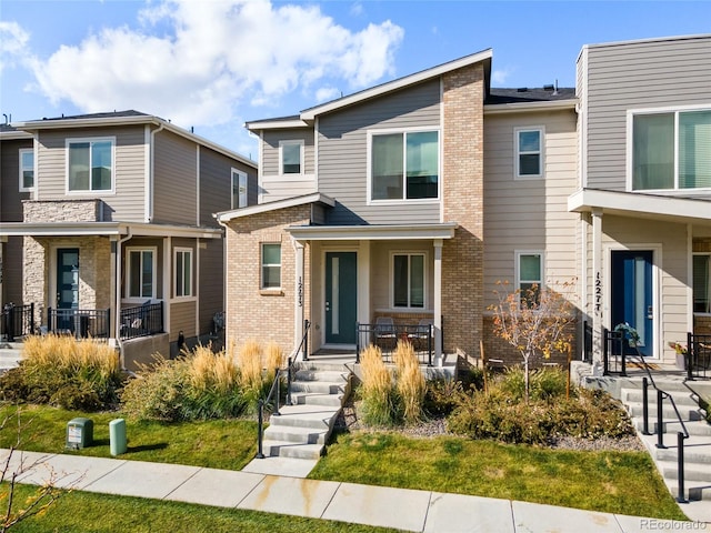
[[[194,142],[169,131],[154,135],[152,222],[198,225],[197,174]]]

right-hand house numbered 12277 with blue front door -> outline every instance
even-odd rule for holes
[[[578,58],[582,305],[641,351],[711,333],[711,34],[583,47]]]

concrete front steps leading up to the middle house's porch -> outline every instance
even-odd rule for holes
[[[297,363],[291,403],[264,430],[266,456],[318,460],[350,392],[351,371],[341,363]]]

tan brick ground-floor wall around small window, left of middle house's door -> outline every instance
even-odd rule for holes
[[[239,348],[254,339],[277,342],[286,354],[294,346],[296,250],[289,225],[308,224],[311,205],[297,205],[231,221],[227,229],[227,339]],[[261,243],[281,243],[281,290],[262,291]],[[304,318],[311,312],[310,248],[304,247]]]

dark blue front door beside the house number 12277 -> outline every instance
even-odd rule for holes
[[[653,355],[652,251],[613,251],[611,290],[611,328],[627,322],[640,335],[640,353]],[[625,353],[637,353],[628,343],[624,345]]]

